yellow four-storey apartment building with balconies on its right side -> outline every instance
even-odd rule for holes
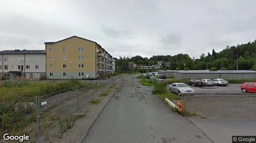
[[[112,56],[95,41],[72,36],[45,42],[47,79],[97,78],[113,73]]]

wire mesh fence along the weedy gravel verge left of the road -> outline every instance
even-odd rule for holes
[[[60,138],[92,104],[108,95],[116,78],[81,83],[47,95],[0,103],[1,137],[2,133],[26,133],[30,142],[37,143]]]

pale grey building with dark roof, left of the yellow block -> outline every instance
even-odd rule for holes
[[[0,51],[0,76],[10,80],[17,77],[40,79],[46,76],[44,50]]]

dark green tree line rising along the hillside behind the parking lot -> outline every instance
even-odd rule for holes
[[[157,64],[157,61],[169,62],[169,66],[161,66],[162,70],[208,70],[216,68],[217,70],[254,70],[256,71],[256,40],[236,46],[226,46],[220,52],[212,49],[208,54],[202,53],[199,59],[189,57],[188,54],[177,55],[153,55],[150,58],[143,58],[140,55],[134,57],[119,57],[116,59],[116,70],[120,72],[129,71],[128,62],[134,62],[137,65],[151,66]]]

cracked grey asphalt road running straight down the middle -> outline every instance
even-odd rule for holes
[[[138,75],[123,85],[93,123],[83,143],[212,143],[192,122],[141,87]]]

